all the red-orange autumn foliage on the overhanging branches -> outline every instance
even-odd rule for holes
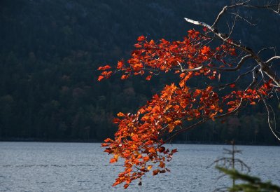
[[[237,53],[230,43],[222,42],[211,46],[207,29],[200,33],[193,29],[183,41],[148,41],[139,36],[131,57],[127,62],[121,60],[115,67],[99,67],[102,71],[98,81],[109,78],[120,71],[121,79],[141,75],[150,81],[160,72],[172,72],[179,76],[178,83],[165,85],[165,88],[141,107],[136,114],[118,113],[113,123],[118,124],[114,139],[106,139],[102,146],[112,154],[110,163],[124,159],[124,171],[118,175],[113,186],[141,178],[147,172],[169,172],[165,163],[172,160],[176,149],[167,149],[164,144],[180,132],[194,128],[205,121],[215,121],[237,113],[247,104],[256,104],[269,94],[272,81],[261,85],[237,88],[237,81],[220,83],[223,69],[236,69]],[[188,86],[191,78],[209,78],[217,85],[204,88]],[[221,90],[223,89],[223,92]],[[192,121],[193,125],[184,126]],[[165,139],[163,139],[165,138]]]

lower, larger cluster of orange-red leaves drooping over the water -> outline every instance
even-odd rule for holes
[[[126,182],[126,188],[132,180],[153,168],[153,175],[169,171],[165,161],[172,159],[176,149],[165,149],[162,135],[173,132],[186,118],[191,120],[221,112],[218,100],[211,87],[192,91],[187,86],[179,88],[172,83],[166,85],[160,95],[154,95],[137,114],[119,113],[119,118],[114,119],[119,128],[115,139],[106,139],[102,144],[107,147],[107,153],[114,154],[110,163],[119,157],[125,159],[125,171],[119,174],[113,185]],[[194,108],[195,103],[200,107]]]

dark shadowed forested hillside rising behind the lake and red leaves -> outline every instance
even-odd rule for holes
[[[129,57],[140,35],[155,41],[183,39],[194,27],[184,17],[211,23],[228,3],[1,0],[0,139],[102,141],[113,137],[113,116],[136,111],[175,77],[121,81],[117,74],[97,82],[97,68]],[[255,49],[277,48],[280,17],[256,14],[252,22],[258,25],[240,22],[235,37]],[[273,105],[279,115],[279,103]],[[186,132],[176,142],[235,139],[240,144],[277,144],[266,115],[265,107],[256,105],[228,121],[209,122]]]

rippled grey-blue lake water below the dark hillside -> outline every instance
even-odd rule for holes
[[[122,164],[96,143],[0,142],[0,191],[214,191],[227,186],[214,166],[223,149],[231,146],[174,144],[179,153],[168,167],[171,173],[150,173],[142,186],[134,181],[127,190],[112,187]],[[238,157],[251,174],[280,184],[280,146],[237,146]]]

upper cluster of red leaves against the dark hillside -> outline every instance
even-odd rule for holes
[[[228,55],[235,55],[235,48],[228,44],[223,44],[212,50],[209,46],[203,46],[203,41],[208,41],[207,37],[200,35],[200,32],[189,30],[188,36],[183,41],[167,41],[161,39],[160,43],[148,41],[146,37],[139,36],[137,43],[134,45],[136,50],[132,51],[130,60],[127,63],[119,61],[114,70],[123,71],[121,79],[126,79],[131,75],[144,75],[146,80],[150,80],[159,71],[175,70],[176,73],[186,71],[186,69],[195,69],[204,66],[201,70],[191,73],[198,76],[204,74],[210,79],[217,76],[217,71],[209,69],[218,64],[219,67],[225,65],[231,66],[225,61]],[[212,62],[216,61],[216,64]],[[103,71],[98,80],[109,78],[112,69],[109,65],[99,67],[98,70]],[[188,78],[190,78],[189,75]],[[185,79],[186,80],[186,79]]]

